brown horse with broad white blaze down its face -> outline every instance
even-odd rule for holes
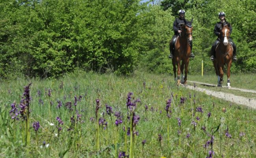
[[[215,73],[218,76],[218,87],[222,87],[223,84],[223,69],[224,65],[227,65],[227,87],[230,88],[230,67],[232,64],[232,58],[233,58],[233,47],[229,42],[230,37],[230,24],[227,25],[221,25],[221,34],[219,35],[219,38],[221,39],[219,45],[217,45],[215,49],[215,56],[216,58],[213,61],[213,65],[215,68]]]

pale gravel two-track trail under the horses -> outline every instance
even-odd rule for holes
[[[192,82],[192,83],[196,83],[196,84],[203,84],[203,85],[210,85],[210,86],[213,86],[213,87],[216,86],[216,85],[212,85],[212,84],[206,84],[206,83],[195,82],[195,81],[187,81],[187,82]],[[230,94],[230,93],[211,91],[211,90],[208,90],[206,88],[200,88],[200,87],[197,87],[197,86],[194,88],[194,86],[191,86],[191,85],[187,85],[186,87],[188,89],[195,89],[196,91],[204,92],[208,95],[215,96],[217,98],[228,100],[228,101],[234,102],[236,104],[246,105],[248,107],[256,109],[256,99],[255,98],[251,99],[251,98],[245,98],[243,96],[237,96],[237,95]],[[225,87],[223,87],[223,88],[225,88]],[[231,87],[231,89],[236,89],[236,90],[243,91],[243,92],[256,93],[256,91],[250,90],[250,89],[239,89],[239,88],[235,88],[235,87]]]

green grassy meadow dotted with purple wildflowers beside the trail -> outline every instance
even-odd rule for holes
[[[168,75],[4,81],[0,127],[0,157],[256,156],[255,110],[177,87]]]

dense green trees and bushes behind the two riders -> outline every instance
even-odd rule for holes
[[[59,76],[74,68],[172,73],[169,40],[181,8],[194,19],[190,73],[202,60],[213,73],[209,50],[219,11],[233,26],[238,61],[232,71],[256,71],[254,0],[0,0],[0,78]]]

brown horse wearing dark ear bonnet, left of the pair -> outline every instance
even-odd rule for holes
[[[177,85],[180,84],[180,72],[182,73],[182,83],[184,85],[187,85],[189,56],[191,54],[190,44],[192,43],[192,30],[193,30],[192,22],[193,22],[193,19],[190,22],[181,24],[182,32],[177,37],[177,40],[175,43],[175,49],[173,52],[173,73],[174,73],[174,80],[177,80],[176,78],[176,65],[177,65],[177,69],[178,69]],[[181,60],[182,60],[182,64],[180,65]],[[185,65],[185,76],[183,76],[184,65]]]

